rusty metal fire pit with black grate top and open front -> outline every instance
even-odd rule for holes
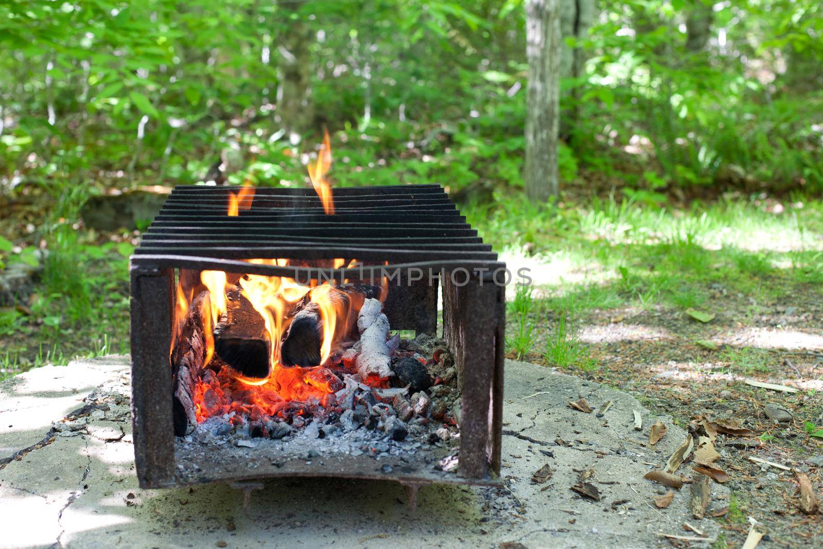
[[[495,279],[503,279],[505,265],[443,188],[338,188],[333,216],[323,212],[313,189],[258,188],[251,207],[234,217],[226,215],[230,190],[174,188],[131,258],[132,421],[140,486],[350,477],[401,482],[413,499],[417,486],[432,482],[500,485],[505,309],[504,286]],[[250,258],[289,258],[300,266],[243,261]],[[313,266],[332,258],[356,258],[364,265]],[[175,444],[170,347],[178,269],[299,281],[379,280],[396,272],[384,305],[392,329],[432,335],[442,286],[443,337],[462,395],[456,472],[435,467],[443,456],[434,452],[379,461],[342,454],[309,463],[253,451],[235,459],[233,449],[197,452]]]

